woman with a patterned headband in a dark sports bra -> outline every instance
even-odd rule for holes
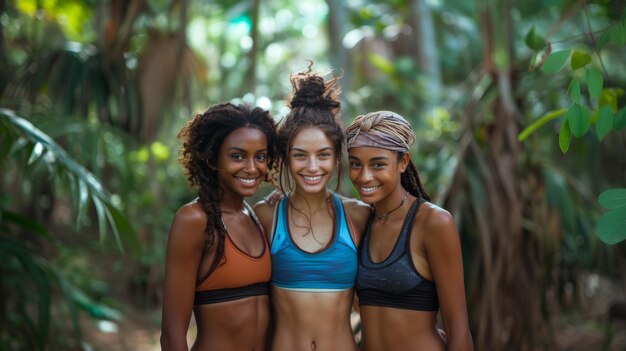
[[[362,350],[472,350],[459,235],[424,191],[409,154],[411,125],[378,111],[358,116],[346,135],[350,180],[374,207],[356,286]]]

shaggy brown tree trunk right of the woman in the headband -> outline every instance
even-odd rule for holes
[[[475,316],[478,350],[531,350],[540,328],[536,269],[540,262],[533,255],[533,239],[522,231],[520,123],[513,96],[510,1],[497,6],[477,1],[476,6],[482,25],[483,73],[491,77],[497,96],[490,102],[493,120],[484,127],[485,143],[481,149],[474,140],[471,148],[482,164],[487,208],[474,209],[481,229],[480,253],[475,255],[469,304]],[[494,62],[494,57],[504,59]]]

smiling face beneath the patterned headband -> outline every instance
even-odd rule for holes
[[[355,147],[348,150],[350,180],[368,204],[379,203],[396,191],[404,192],[400,183],[408,166],[408,154],[398,159],[398,153],[376,147]]]

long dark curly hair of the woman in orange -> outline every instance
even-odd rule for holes
[[[209,272],[217,267],[224,255],[226,235],[220,209],[223,191],[218,180],[219,151],[226,137],[239,128],[257,128],[265,134],[268,170],[271,170],[274,166],[276,125],[264,109],[245,104],[212,105],[196,114],[178,132],[182,144],[180,162],[189,185],[197,190],[198,202],[207,216],[205,250],[216,243],[216,236],[218,238],[215,259]]]

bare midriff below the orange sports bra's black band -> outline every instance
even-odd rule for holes
[[[198,333],[192,351],[263,351],[269,324],[269,296],[194,307]]]

